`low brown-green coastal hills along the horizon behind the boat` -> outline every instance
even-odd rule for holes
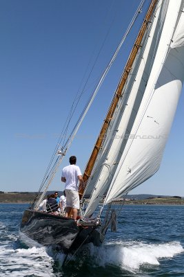
[[[48,194],[53,194],[54,191],[48,191]],[[63,195],[62,191],[58,192]],[[37,196],[37,192],[10,192],[5,193],[0,191],[0,203],[31,203]],[[180,196],[165,196],[165,195],[126,195],[125,200],[119,198],[117,203],[123,202],[124,204],[157,204],[157,205],[184,205],[184,197]]]

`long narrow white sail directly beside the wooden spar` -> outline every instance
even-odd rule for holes
[[[152,26],[148,26],[152,28],[147,30],[143,38],[143,46],[134,62],[132,72],[123,91],[123,98],[116,108],[113,120],[108,128],[108,133],[106,134],[101,155],[98,157],[94,172],[92,172],[92,179],[90,179],[85,193],[90,195],[93,189],[94,192],[92,193],[85,215],[93,213],[99,201],[103,198],[103,194],[110,186],[117,164],[121,159],[127,143],[126,136],[130,134],[133,118],[135,118],[141,104],[149,71],[153,63],[155,48],[159,40],[159,29],[164,19],[165,12],[161,12],[161,6],[159,6],[152,17]]]

